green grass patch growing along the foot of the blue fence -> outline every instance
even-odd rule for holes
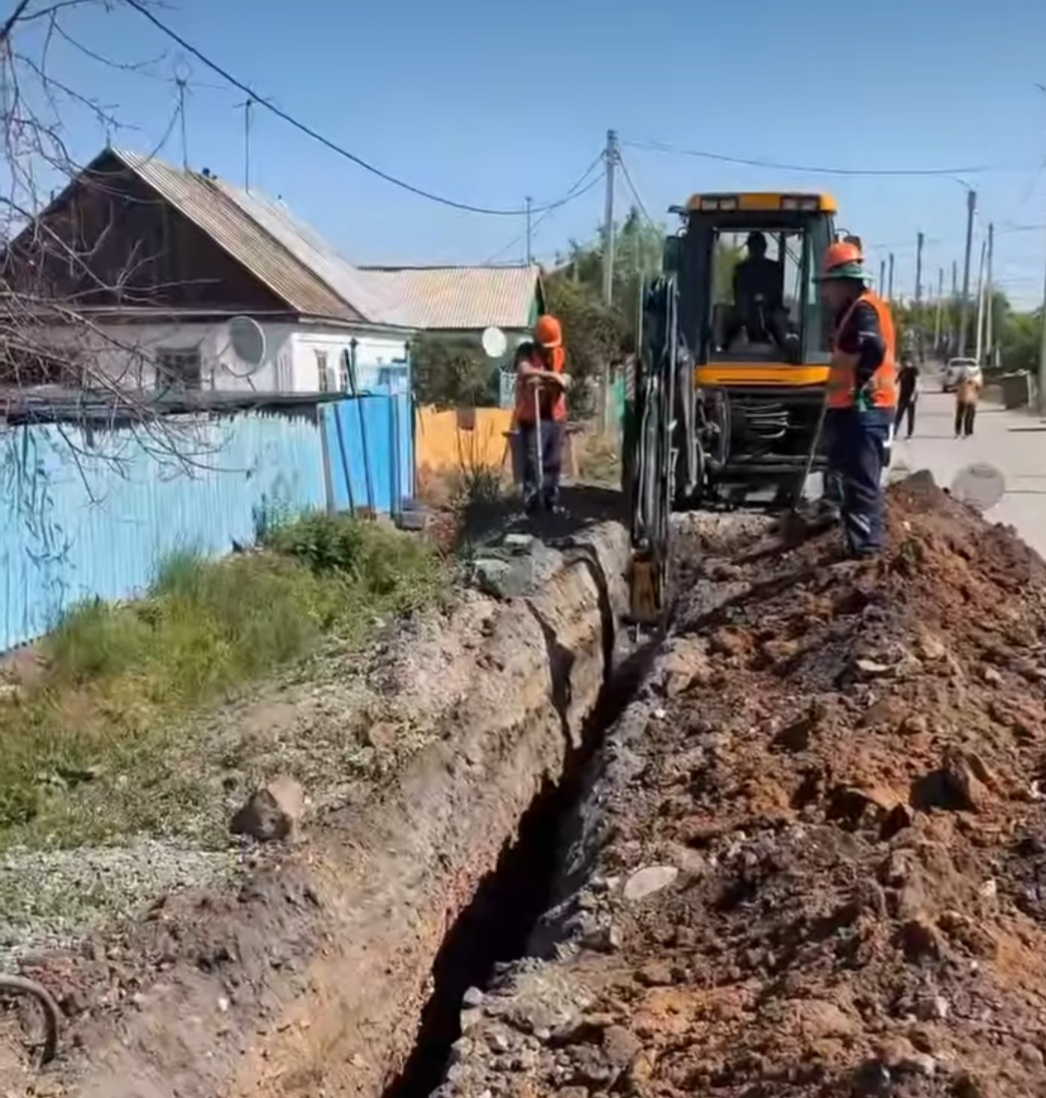
[[[322,643],[358,647],[446,583],[406,535],[307,515],[257,552],[168,558],[138,601],[76,607],[40,681],[0,703],[0,847],[168,831],[200,795],[177,765],[185,717]]]

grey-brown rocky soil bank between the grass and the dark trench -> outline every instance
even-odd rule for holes
[[[0,858],[0,971],[64,1016],[41,1072],[40,1018],[0,995],[3,1098],[383,1093],[610,671],[623,531],[531,557],[526,598],[462,592],[187,730],[183,833]]]

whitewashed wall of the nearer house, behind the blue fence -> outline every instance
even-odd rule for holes
[[[225,320],[106,324],[99,325],[98,333],[89,334],[59,327],[54,330],[53,339],[56,346],[67,347],[80,357],[90,356],[110,378],[127,388],[156,388],[156,362],[171,352],[199,352],[203,390],[311,393],[342,388],[339,363],[341,352],[349,349],[352,330],[288,323],[262,322],[260,326],[266,337],[265,356],[254,370],[234,352]],[[395,336],[358,333],[356,337],[360,388],[387,388],[390,380],[401,380],[398,376],[406,384],[405,337],[398,333]],[[319,355],[326,357],[326,385],[319,378]]]

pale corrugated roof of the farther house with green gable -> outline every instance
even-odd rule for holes
[[[364,267],[410,327],[527,328],[538,293],[537,267]]]

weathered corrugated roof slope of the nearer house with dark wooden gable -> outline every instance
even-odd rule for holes
[[[112,152],[294,312],[402,326],[395,304],[282,205],[155,156]]]

